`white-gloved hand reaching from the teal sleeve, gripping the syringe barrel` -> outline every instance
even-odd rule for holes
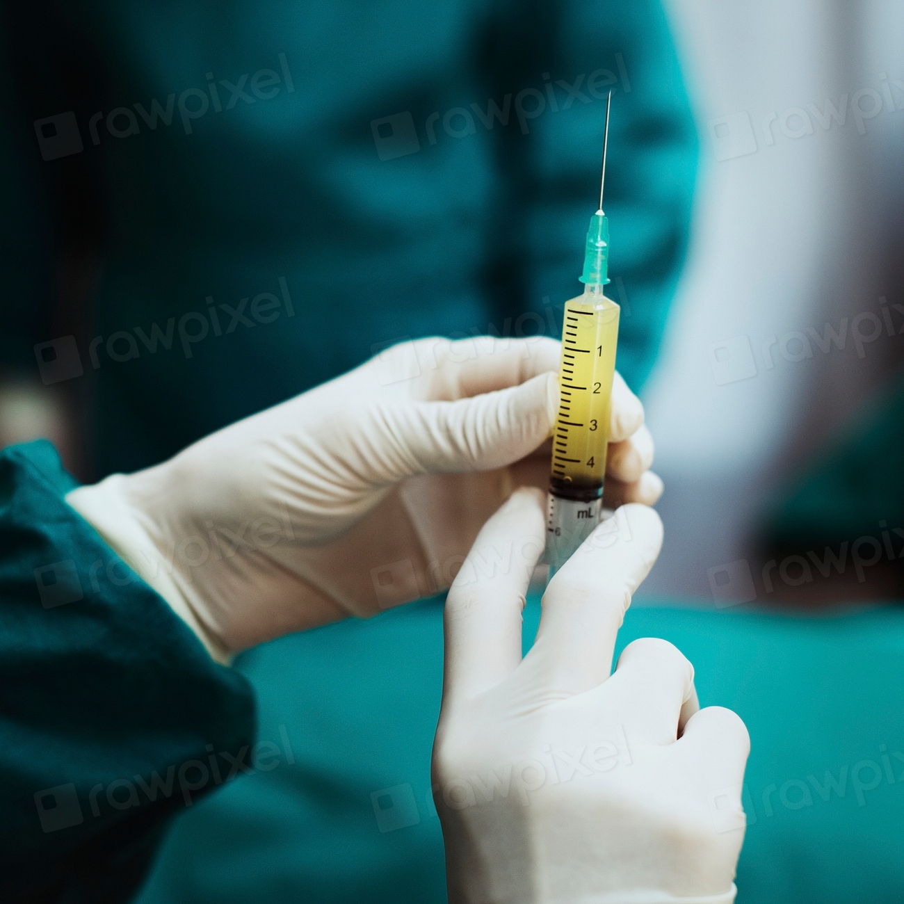
[[[546,483],[559,354],[542,338],[400,344],[67,499],[224,660],[446,589],[513,485]],[[620,378],[612,424],[610,494],[652,504],[653,444]]]

